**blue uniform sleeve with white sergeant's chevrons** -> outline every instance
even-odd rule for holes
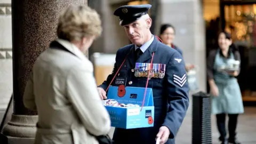
[[[185,64],[179,52],[175,52],[166,66],[167,114],[163,123],[173,139],[186,115],[189,106],[188,82]]]

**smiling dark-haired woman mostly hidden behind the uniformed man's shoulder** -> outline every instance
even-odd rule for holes
[[[182,56],[182,50],[173,44],[173,40],[175,38],[175,28],[171,24],[163,24],[160,28],[160,36],[159,36],[163,43],[172,47],[173,49],[177,50]],[[185,65],[186,71],[193,69],[195,66],[191,64]]]

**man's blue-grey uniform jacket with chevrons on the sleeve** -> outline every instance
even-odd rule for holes
[[[189,106],[189,89],[185,63],[177,50],[170,49],[169,46],[159,42],[155,37],[148,49],[138,60],[135,60],[134,44],[124,46],[116,53],[113,73],[99,87],[107,89],[126,55],[127,59],[121,67],[118,77],[127,78],[126,86],[145,87],[147,77],[135,77],[132,69],[134,69],[136,62],[150,63],[153,53],[155,53],[153,63],[166,65],[164,78],[150,78],[148,83],[148,87],[153,89],[155,106],[154,127],[127,130],[117,128],[113,137],[117,144],[155,144],[156,134],[159,131],[159,127],[163,125],[167,126],[170,130],[170,137],[166,143],[175,143],[174,137]],[[131,81],[132,83],[129,84]]]

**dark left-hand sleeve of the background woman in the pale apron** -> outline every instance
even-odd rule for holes
[[[207,80],[213,79],[213,65],[214,65],[215,55],[216,55],[216,51],[211,51],[207,58],[207,66],[206,66]]]

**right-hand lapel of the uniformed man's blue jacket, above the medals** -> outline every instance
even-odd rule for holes
[[[156,52],[157,46],[158,40],[154,36],[154,41],[151,43],[148,49],[142,55],[140,55],[140,58],[136,62],[147,63],[147,61],[152,58],[152,53]]]

